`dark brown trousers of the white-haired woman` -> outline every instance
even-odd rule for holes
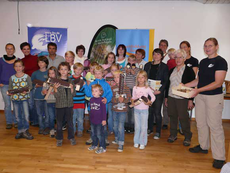
[[[168,97],[168,115],[170,117],[170,134],[177,136],[178,118],[186,139],[192,138],[190,118],[188,114],[188,99]]]

